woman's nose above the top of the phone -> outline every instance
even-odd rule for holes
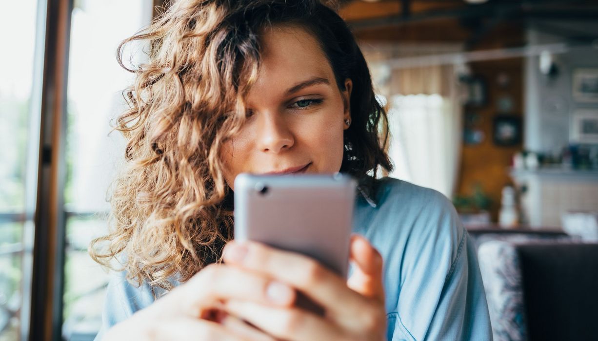
[[[261,151],[279,153],[294,145],[295,139],[284,118],[277,113],[264,113],[260,116],[261,129],[257,132],[257,139]]]

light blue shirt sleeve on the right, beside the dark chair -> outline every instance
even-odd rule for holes
[[[405,248],[388,339],[492,340],[474,245],[450,201],[432,196]]]

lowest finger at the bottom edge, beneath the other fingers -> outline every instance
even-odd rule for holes
[[[342,331],[332,322],[297,308],[264,306],[258,303],[229,300],[225,309],[250,322],[277,339],[317,341],[343,339]]]

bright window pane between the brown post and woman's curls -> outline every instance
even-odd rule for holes
[[[150,0],[80,0],[72,11],[62,332],[68,340],[93,340],[100,328],[108,275],[90,259],[87,247],[94,236],[107,231],[106,195],[125,143],[118,131],[111,133],[110,121],[123,112],[122,91],[133,79],[118,65],[115,51],[151,17]],[[138,48],[142,46],[133,45],[135,51]]]

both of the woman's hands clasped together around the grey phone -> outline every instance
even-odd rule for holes
[[[382,257],[366,239],[352,238],[348,287],[315,260],[262,244],[231,242],[224,256],[227,265],[206,267],[103,340],[384,339]],[[295,289],[325,316],[296,308]]]

